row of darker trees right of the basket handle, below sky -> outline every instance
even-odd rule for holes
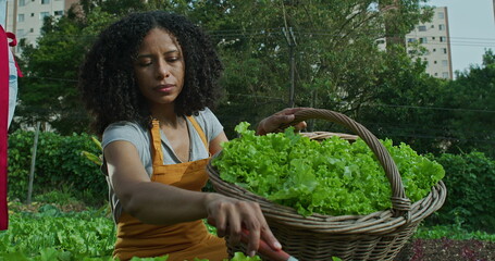
[[[359,122],[376,136],[404,141],[421,153],[481,151],[493,158],[493,52],[486,51],[481,66],[458,73],[455,80],[429,76],[420,59],[395,52],[378,77],[374,95],[360,103]]]

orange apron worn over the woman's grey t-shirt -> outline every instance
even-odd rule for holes
[[[208,149],[205,133],[193,116],[188,117]],[[200,191],[208,181],[206,164],[209,159],[163,165],[160,126],[153,121],[151,128],[153,174],[158,182],[183,189]],[[211,235],[203,221],[174,225],[149,225],[122,212],[117,223],[117,239],[113,257],[129,260],[133,257],[160,257],[168,261],[193,261],[195,258],[222,261],[227,259],[225,240]]]

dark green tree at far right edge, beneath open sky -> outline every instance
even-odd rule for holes
[[[495,53],[486,50],[482,65],[458,73],[447,86],[450,152],[479,150],[495,157]]]

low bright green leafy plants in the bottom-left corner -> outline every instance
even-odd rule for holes
[[[113,222],[97,211],[62,212],[51,204],[41,206],[38,212],[13,213],[8,231],[0,232],[0,260],[13,256],[66,257],[60,260],[83,260],[82,257],[109,257],[115,235]],[[49,259],[48,259],[49,260]],[[55,259],[57,260],[57,259]]]

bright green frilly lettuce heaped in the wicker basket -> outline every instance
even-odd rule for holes
[[[392,207],[384,170],[360,138],[348,142],[332,137],[321,142],[284,133],[256,136],[249,123],[238,124],[240,137],[223,144],[212,164],[220,177],[302,215],[369,214]],[[407,197],[424,198],[445,171],[408,145],[381,140],[395,161]]]

